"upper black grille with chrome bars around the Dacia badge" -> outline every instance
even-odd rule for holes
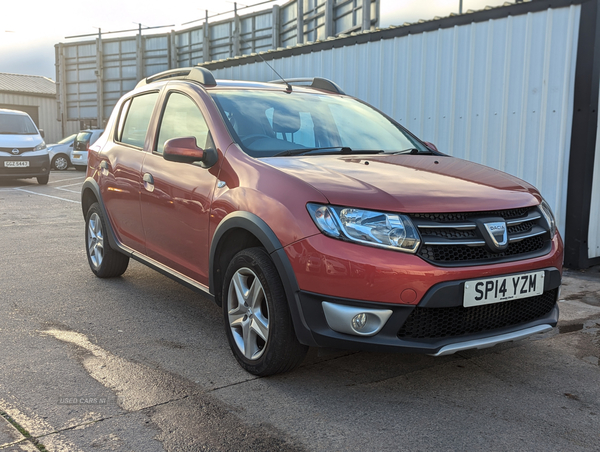
[[[440,266],[481,265],[526,259],[550,250],[548,225],[537,207],[486,212],[418,213],[409,215],[419,230],[417,254]],[[483,223],[504,221],[509,244],[491,244]]]

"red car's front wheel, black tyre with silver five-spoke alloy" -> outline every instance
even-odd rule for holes
[[[225,331],[233,355],[254,375],[287,372],[308,347],[296,338],[279,273],[262,248],[237,253],[223,284]]]

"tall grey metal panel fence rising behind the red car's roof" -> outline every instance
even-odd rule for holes
[[[58,116],[102,125],[116,101],[144,77],[368,30],[378,24],[378,15],[379,0],[291,0],[219,22],[207,18],[181,31],[57,44]]]

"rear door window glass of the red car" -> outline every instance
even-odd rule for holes
[[[157,99],[158,93],[149,93],[126,102],[119,119],[118,141],[138,148],[144,147],[150,117]]]

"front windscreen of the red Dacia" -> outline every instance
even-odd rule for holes
[[[254,157],[310,150],[430,153],[375,109],[348,97],[306,92],[215,90],[233,138]]]

